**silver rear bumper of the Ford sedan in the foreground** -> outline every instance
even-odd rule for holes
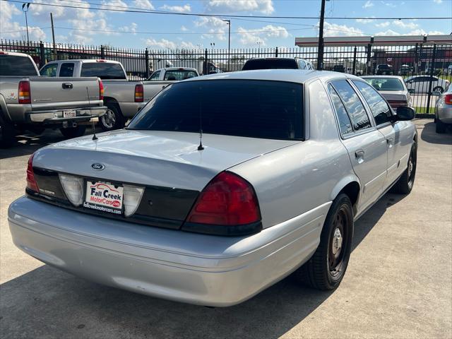
[[[248,237],[93,217],[22,197],[8,222],[19,249],[97,283],[179,302],[238,304],[307,261],[331,203]]]

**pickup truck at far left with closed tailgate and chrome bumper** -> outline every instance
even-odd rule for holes
[[[0,145],[12,145],[18,129],[83,135],[90,119],[107,110],[102,93],[97,77],[45,78],[27,54],[0,51]]]

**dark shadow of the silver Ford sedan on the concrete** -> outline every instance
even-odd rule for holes
[[[386,208],[402,199],[386,194],[356,222],[352,250]],[[289,276],[242,304],[207,308],[97,285],[44,265],[1,285],[0,333],[2,338],[276,338],[333,293],[302,287]]]

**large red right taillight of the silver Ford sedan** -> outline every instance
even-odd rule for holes
[[[208,225],[247,225],[261,220],[256,193],[249,182],[222,172],[201,191],[186,222]]]

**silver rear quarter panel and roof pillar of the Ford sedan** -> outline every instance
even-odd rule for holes
[[[309,139],[230,169],[254,186],[264,228],[331,203],[356,178],[323,85],[314,81],[304,88]]]

